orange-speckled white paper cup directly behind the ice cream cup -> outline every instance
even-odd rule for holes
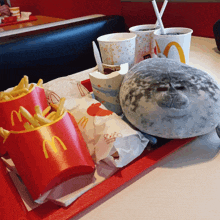
[[[113,33],[97,39],[101,51],[102,62],[108,65],[134,65],[136,34]]]

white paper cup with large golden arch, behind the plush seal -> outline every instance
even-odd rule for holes
[[[165,35],[160,29],[154,31],[157,55],[188,64],[192,32],[192,29],[182,27],[165,28]]]

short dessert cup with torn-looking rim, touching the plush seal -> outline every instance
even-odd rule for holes
[[[104,65],[105,68],[114,68],[115,66]],[[95,99],[101,102],[108,110],[116,114],[122,114],[119,102],[119,91],[121,82],[128,72],[128,63],[120,65],[120,70],[113,71],[110,74],[102,74],[98,71],[89,74]]]

